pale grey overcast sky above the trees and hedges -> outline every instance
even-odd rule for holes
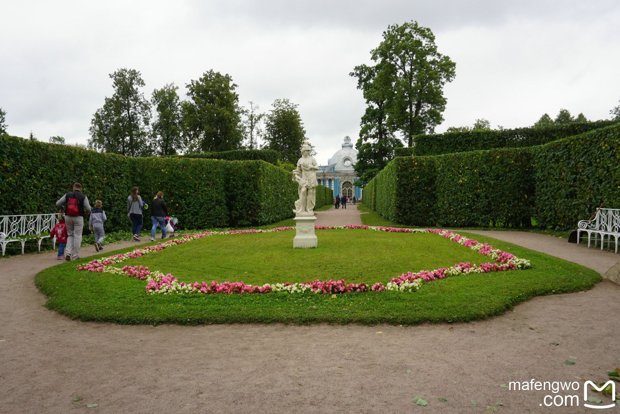
[[[358,137],[365,103],[353,67],[370,62],[389,24],[430,27],[456,62],[448,126],[486,118],[532,125],[560,108],[609,118],[620,100],[620,1],[5,1],[0,0],[0,107],[7,132],[86,143],[112,95],[108,74],[136,69],[144,94],[214,69],[241,105],[299,104],[323,164]]]

